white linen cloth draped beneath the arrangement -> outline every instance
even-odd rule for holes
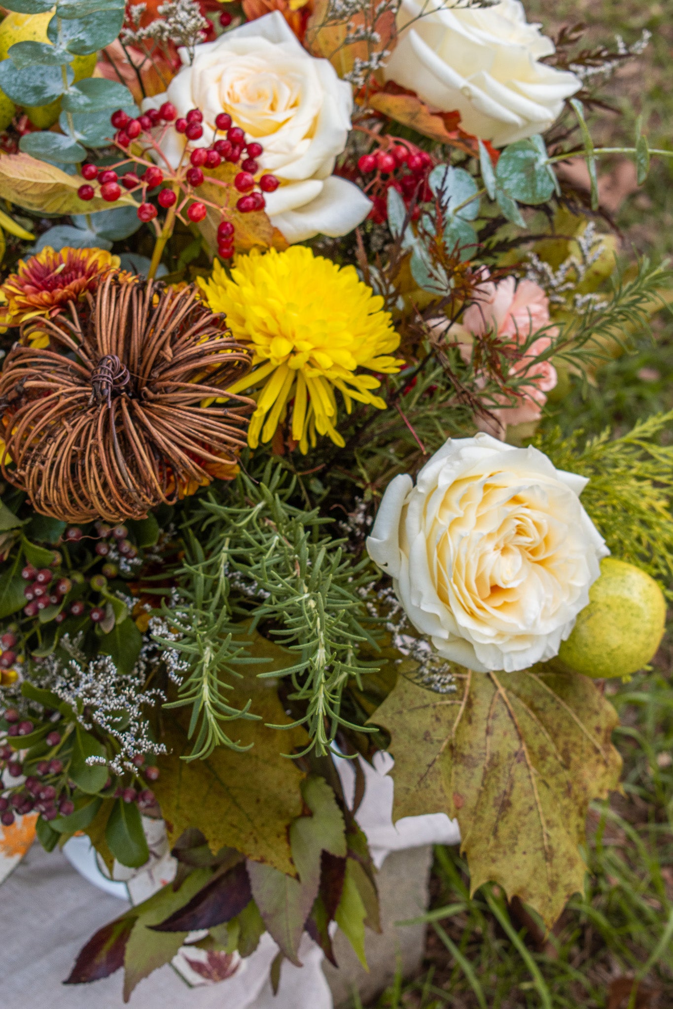
[[[390,851],[428,844],[458,844],[455,820],[444,813],[411,816],[392,824],[392,759],[377,754],[374,767],[361,761],[364,797],[356,818],[367,835],[379,867]],[[352,802],[355,772],[351,762],[337,760],[346,800]],[[90,985],[67,986],[82,945],[98,928],[119,915],[122,904],[111,893],[94,889],[60,853],[47,855],[33,846],[2,885],[0,907],[5,922],[0,942],[1,1009],[122,1009],[122,972]],[[197,952],[196,950],[194,952]],[[268,981],[277,952],[265,933],[251,957],[217,984],[189,973],[199,987],[190,988],[170,966],[141,981],[131,996],[138,1009],[333,1009],[322,971],[323,952],[308,935],[300,947],[302,968],[287,961],[277,995]],[[190,954],[192,956],[192,954]]]

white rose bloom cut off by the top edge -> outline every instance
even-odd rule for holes
[[[574,74],[539,62],[554,43],[539,24],[527,24],[519,0],[492,7],[403,0],[398,29],[385,79],[437,109],[457,110],[463,129],[496,146],[542,133],[581,87]]]

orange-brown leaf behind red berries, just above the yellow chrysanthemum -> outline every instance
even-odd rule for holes
[[[217,169],[209,169],[199,193],[218,207],[229,208],[238,252],[248,252],[252,248],[287,248],[287,241],[278,229],[273,227],[263,210],[241,214],[236,209],[240,193],[234,188],[233,182],[239,171],[238,165],[230,161],[223,161]],[[227,185],[219,185],[222,183]],[[221,220],[221,215],[209,207],[205,220],[199,225],[202,235],[213,249],[217,248],[217,228]]]

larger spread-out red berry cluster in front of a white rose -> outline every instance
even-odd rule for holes
[[[142,200],[137,210],[141,221],[147,223],[157,216],[157,209],[153,203],[147,199],[147,193],[155,190],[164,183],[166,188],[160,189],[156,202],[164,210],[178,203],[178,194],[182,189],[185,197],[177,212],[187,204],[186,214],[190,221],[199,223],[203,221],[207,214],[207,207],[211,206],[222,213],[222,208],[202,199],[196,200],[194,190],[201,186],[208,178],[204,169],[216,169],[223,161],[230,161],[233,164],[240,163],[240,172],[236,175],[233,185],[241,194],[236,202],[236,209],[246,214],[255,210],[263,210],[265,206],[264,193],[272,193],[278,187],[278,180],[272,175],[262,175],[258,181],[255,176],[259,171],[258,157],[262,152],[261,144],[256,142],[245,142],[245,133],[239,126],[234,126],[230,115],[221,112],[216,120],[216,131],[224,133],[225,136],[215,138],[210,147],[191,147],[190,142],[201,140],[204,135],[203,113],[199,109],[190,109],[185,117],[178,118],[175,105],[164,102],[159,109],[149,109],[146,113],[131,118],[123,109],[117,109],[110,117],[115,133],[116,144],[125,149],[131,140],[135,140],[142,134],[142,139],[149,146],[162,156],[160,144],[157,144],[150,132],[157,126],[166,128],[169,124],[175,123],[175,129],[183,133],[187,138],[188,146],[186,154],[189,154],[189,163],[183,157],[183,161],[176,172],[166,165],[161,170],[155,164],[142,161],[140,157],[135,157],[138,164],[146,164],[141,174],[127,172],[121,178],[117,176],[114,169],[98,169],[95,164],[87,163],[82,167],[82,175],[87,180],[84,186],[80,186],[78,195],[82,200],[93,200],[96,195],[94,187],[90,185],[97,180],[100,183],[100,195],[109,203],[114,203],[121,196],[121,188],[128,191],[140,189]],[[255,189],[258,187],[258,189]],[[223,225],[230,225],[229,221],[223,221],[218,232],[219,247],[218,254],[222,258],[231,258],[233,255],[233,228],[231,232]],[[228,239],[231,239],[230,241]]]

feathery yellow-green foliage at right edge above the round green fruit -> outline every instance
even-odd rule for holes
[[[640,421],[621,438],[609,431],[582,446],[581,431],[559,429],[534,444],[559,469],[587,476],[582,503],[615,557],[644,568],[673,598],[673,445],[660,436],[673,429],[673,411]]]

